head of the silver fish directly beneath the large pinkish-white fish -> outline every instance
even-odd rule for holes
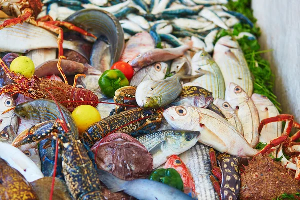
[[[166,137],[167,145],[174,153],[180,154],[194,146],[199,140],[199,131],[173,130]]]

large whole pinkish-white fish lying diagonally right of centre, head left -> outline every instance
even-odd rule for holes
[[[200,131],[199,142],[219,152],[238,157],[253,157],[258,152],[231,123],[211,110],[173,106],[163,116],[174,129]]]

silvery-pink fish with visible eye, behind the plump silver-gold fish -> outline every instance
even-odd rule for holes
[[[137,86],[146,80],[163,80],[166,70],[167,64],[165,62],[156,62],[150,66],[143,67],[133,75],[130,85]]]

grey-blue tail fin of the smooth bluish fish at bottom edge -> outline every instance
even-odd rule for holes
[[[97,169],[97,173],[101,182],[103,182],[111,192],[114,193],[118,191],[123,191],[125,189],[123,188],[124,184],[126,183],[125,180],[121,180],[112,175],[111,173],[101,169]]]

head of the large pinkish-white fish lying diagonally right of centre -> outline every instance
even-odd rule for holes
[[[172,106],[164,110],[163,116],[174,129],[198,130],[200,115],[194,107]]]

